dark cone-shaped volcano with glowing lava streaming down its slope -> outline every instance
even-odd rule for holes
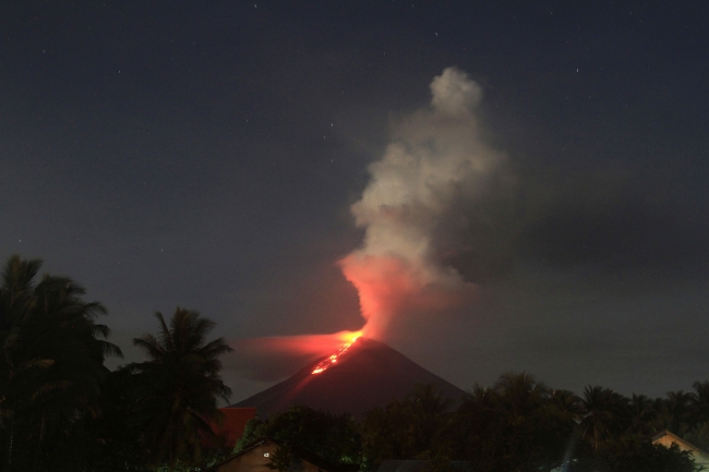
[[[373,339],[357,339],[339,354],[336,363],[313,373],[328,358],[313,362],[292,377],[231,407],[255,407],[262,419],[295,404],[361,417],[365,411],[384,407],[395,397],[402,399],[417,384],[435,384],[442,397],[455,404],[465,395],[455,385]]]

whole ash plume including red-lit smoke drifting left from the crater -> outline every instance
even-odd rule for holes
[[[504,239],[496,226],[490,230],[485,225],[491,201],[507,198],[514,182],[505,171],[505,156],[481,136],[476,114],[481,87],[465,72],[448,68],[430,88],[430,106],[394,124],[383,157],[370,165],[370,182],[351,206],[364,241],[338,264],[358,291],[364,327],[235,341],[231,346],[243,361],[236,367],[245,375],[283,376],[296,363],[331,354],[359,336],[390,337],[387,328],[394,318],[416,324],[420,316],[441,314],[477,294],[477,285],[466,277],[469,266],[480,266],[481,259],[468,256],[494,253],[490,234]],[[454,261],[462,261],[466,277],[450,265]],[[283,368],[276,372],[273,365]]]

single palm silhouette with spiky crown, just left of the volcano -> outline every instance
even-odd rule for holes
[[[163,314],[155,316],[158,335],[133,339],[149,361],[131,367],[145,387],[142,443],[151,464],[177,470],[202,460],[209,422],[221,420],[217,399],[228,400],[231,390],[219,376],[219,356],[231,348],[223,338],[206,341],[215,323],[197,312],[178,307],[169,327]]]

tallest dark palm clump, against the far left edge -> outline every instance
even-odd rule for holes
[[[9,428],[7,469],[13,445],[37,470],[48,435],[65,435],[84,413],[98,415],[108,373],[105,356],[122,355],[105,340],[109,329],[95,323],[106,308],[84,302],[84,288],[69,278],[46,275],[36,283],[40,267],[40,259],[15,255],[0,276],[0,428]],[[24,436],[15,434],[17,425]]]

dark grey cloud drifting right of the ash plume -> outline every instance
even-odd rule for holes
[[[465,225],[438,232],[442,257],[468,280],[512,277],[515,262],[528,259],[588,266],[599,276],[707,276],[709,227],[693,210],[695,202],[662,198],[632,178],[598,171],[584,179],[507,176],[507,185],[497,182],[484,199],[467,205]]]

